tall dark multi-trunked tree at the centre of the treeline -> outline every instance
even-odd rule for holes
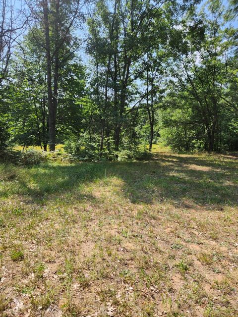
[[[95,100],[102,111],[101,148],[106,128],[106,131],[114,130],[109,133],[115,140],[115,150],[119,150],[121,127],[130,112],[127,108],[136,109],[133,102],[138,105],[143,99],[135,89],[145,71],[138,65],[153,47],[166,41],[163,3],[115,0],[107,5],[99,1],[88,21],[88,52],[96,68],[96,79],[92,82],[96,83]]]

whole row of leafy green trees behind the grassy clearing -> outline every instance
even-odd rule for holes
[[[238,150],[238,5],[225,4],[0,0],[0,147]]]

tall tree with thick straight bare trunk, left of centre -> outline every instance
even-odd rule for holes
[[[38,2],[28,2],[35,19],[34,27],[29,27],[35,42],[46,54],[50,151],[55,151],[56,145],[60,69],[78,48],[72,29],[78,18],[82,18],[80,10],[83,4],[80,0],[43,0],[39,5]]]

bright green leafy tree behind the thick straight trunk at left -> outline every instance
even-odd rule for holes
[[[36,32],[36,31],[35,31]],[[11,63],[9,100],[14,141],[23,146],[48,144],[47,70],[45,52],[35,46],[32,33],[24,37],[21,50]],[[77,133],[81,127],[80,100],[85,94],[85,73],[76,56],[60,68],[58,88],[58,140]]]

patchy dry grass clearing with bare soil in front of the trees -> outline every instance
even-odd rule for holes
[[[238,157],[163,151],[0,165],[0,316],[238,316]]]

